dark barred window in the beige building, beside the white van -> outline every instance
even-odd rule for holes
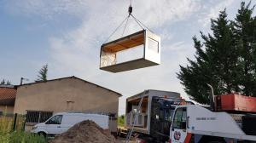
[[[26,111],[26,123],[44,123],[53,112]]]

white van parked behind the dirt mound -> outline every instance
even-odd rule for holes
[[[108,129],[109,117],[107,115],[94,113],[56,113],[49,117],[44,123],[38,123],[32,128],[32,133],[36,134],[61,134],[73,127],[74,124],[84,120],[91,120],[98,124],[102,129]]]

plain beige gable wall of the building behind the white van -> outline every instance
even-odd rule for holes
[[[118,94],[71,77],[20,86],[17,89],[14,112],[111,112],[117,118],[118,107]],[[116,129],[115,119],[110,123],[110,130],[116,132]]]

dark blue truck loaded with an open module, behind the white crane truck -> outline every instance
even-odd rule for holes
[[[127,134],[133,129],[133,135],[139,140],[166,142],[169,140],[172,112],[176,106],[183,104],[193,103],[183,100],[176,92],[148,89],[133,95],[126,99],[125,127],[118,129],[119,134]]]

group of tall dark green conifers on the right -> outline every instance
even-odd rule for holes
[[[211,20],[212,34],[193,37],[195,60],[177,73],[192,99],[209,103],[207,83],[215,94],[256,96],[256,17],[250,4],[241,3],[235,20],[228,20],[224,9]]]

